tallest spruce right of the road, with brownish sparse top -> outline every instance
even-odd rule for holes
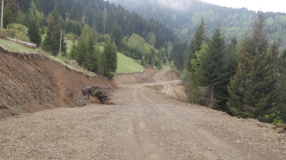
[[[259,11],[250,34],[241,43],[237,72],[228,87],[227,106],[233,115],[254,117],[264,122],[273,120],[278,75],[275,48],[268,51],[265,18]]]

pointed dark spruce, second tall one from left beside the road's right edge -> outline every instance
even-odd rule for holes
[[[198,78],[196,81],[199,82],[200,87],[214,87],[215,104],[218,104],[221,109],[225,109],[224,105],[228,97],[227,85],[230,78],[228,66],[225,38],[221,23],[218,22],[212,31],[207,52],[200,58],[198,70],[194,74]]]

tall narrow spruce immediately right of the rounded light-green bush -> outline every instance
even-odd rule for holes
[[[29,28],[31,41],[39,46],[42,42],[42,37],[40,35],[41,15],[34,1],[31,1],[30,5],[31,7],[29,8],[29,14],[27,15],[27,27]]]

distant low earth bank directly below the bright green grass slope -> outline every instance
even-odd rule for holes
[[[134,72],[134,73],[117,73],[114,78],[114,84],[122,85],[122,84],[136,84],[136,83],[146,83],[146,82],[154,82],[155,80],[152,78],[156,73],[156,69],[154,68],[145,68],[143,72]]]

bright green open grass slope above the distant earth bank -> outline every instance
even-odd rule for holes
[[[117,53],[117,55],[118,55],[118,63],[117,63],[116,73],[133,73],[133,72],[144,71],[143,66],[140,65],[135,60],[133,60],[132,58],[127,57],[119,52]]]

